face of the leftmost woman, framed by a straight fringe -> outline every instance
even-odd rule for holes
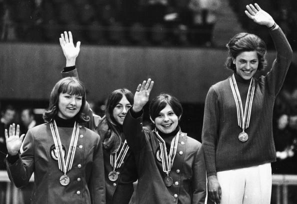
[[[57,115],[63,119],[70,119],[79,112],[81,103],[82,96],[80,95],[60,93]]]

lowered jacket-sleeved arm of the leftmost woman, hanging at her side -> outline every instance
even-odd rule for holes
[[[91,203],[105,203],[105,176],[102,142],[98,139],[93,155],[91,175],[89,178],[88,189],[91,196]]]

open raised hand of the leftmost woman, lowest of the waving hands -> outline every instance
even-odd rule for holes
[[[10,124],[9,126],[9,136],[8,136],[8,131],[5,129],[5,138],[6,138],[6,147],[7,151],[10,155],[16,155],[24,134],[19,135],[19,125],[16,125],[16,130],[15,130],[15,124],[13,123],[12,125]]]

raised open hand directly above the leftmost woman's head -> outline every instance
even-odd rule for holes
[[[66,66],[75,65],[75,59],[79,53],[80,41],[76,42],[76,47],[73,44],[72,33],[69,31],[69,37],[66,31],[64,34],[61,33],[61,37],[59,38],[60,45],[62,47],[64,56],[66,57]]]

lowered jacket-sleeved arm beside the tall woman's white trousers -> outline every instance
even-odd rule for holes
[[[195,155],[192,180],[192,204],[204,204],[206,197],[206,169],[201,144]]]

